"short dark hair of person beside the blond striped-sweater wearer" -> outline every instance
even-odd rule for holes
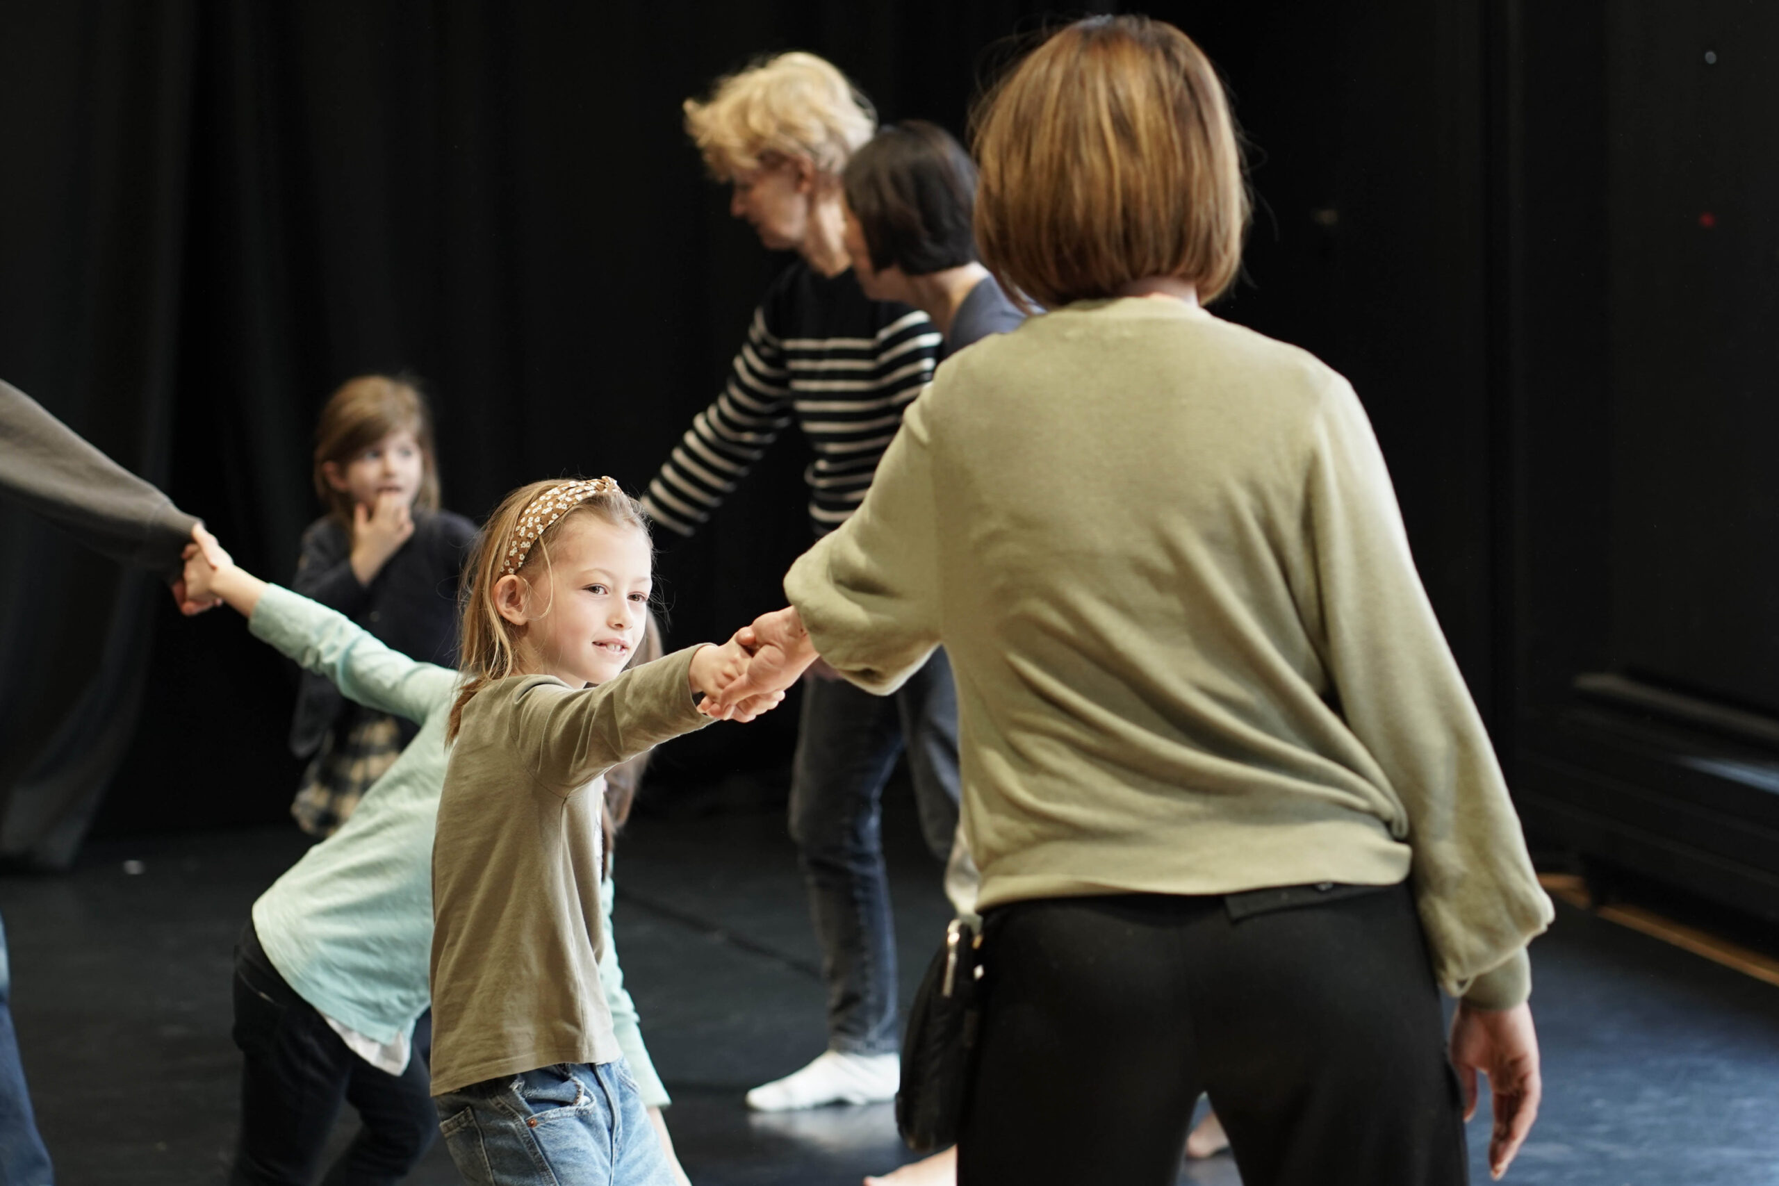
[[[841,181],[873,270],[930,276],[975,263],[977,167],[945,128],[886,124],[852,155]]]

